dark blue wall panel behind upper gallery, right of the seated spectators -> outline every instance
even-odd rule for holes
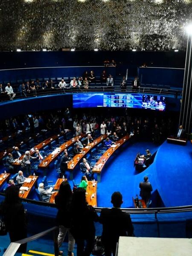
[[[142,84],[163,84],[182,88],[184,69],[139,67],[138,76]]]

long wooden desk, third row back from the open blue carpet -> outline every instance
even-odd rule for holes
[[[40,168],[47,168],[49,164],[55,160],[58,155],[60,155],[65,148],[68,148],[69,146],[73,145],[76,143],[77,139],[81,139],[83,137],[87,136],[87,134],[81,134],[79,136],[76,136],[72,138],[71,140],[68,140],[67,142],[63,143],[60,147],[58,147],[58,150],[54,150],[55,154],[49,154],[44,160],[38,165]]]

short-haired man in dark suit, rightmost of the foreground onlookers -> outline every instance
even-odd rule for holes
[[[119,236],[133,236],[134,228],[130,215],[120,209],[123,201],[120,192],[114,192],[111,196],[113,208],[104,208],[101,211],[99,222],[103,225],[102,243],[105,256],[115,256],[116,243]]]

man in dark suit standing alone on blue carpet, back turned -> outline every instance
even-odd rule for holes
[[[151,192],[153,191],[151,183],[148,181],[148,177],[144,177],[144,181],[140,182],[140,197],[145,201],[146,207],[151,204]]]

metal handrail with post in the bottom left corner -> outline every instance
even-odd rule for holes
[[[24,238],[22,240],[10,243],[7,250],[3,254],[3,256],[14,256],[21,244],[26,244],[28,242],[39,239],[42,236],[45,236],[50,232],[54,233],[54,251],[55,251],[55,256],[58,256],[58,253],[59,253],[59,250],[58,250],[58,227],[52,227],[52,228],[49,228],[48,230],[45,230],[41,233],[38,233],[33,236]]]

